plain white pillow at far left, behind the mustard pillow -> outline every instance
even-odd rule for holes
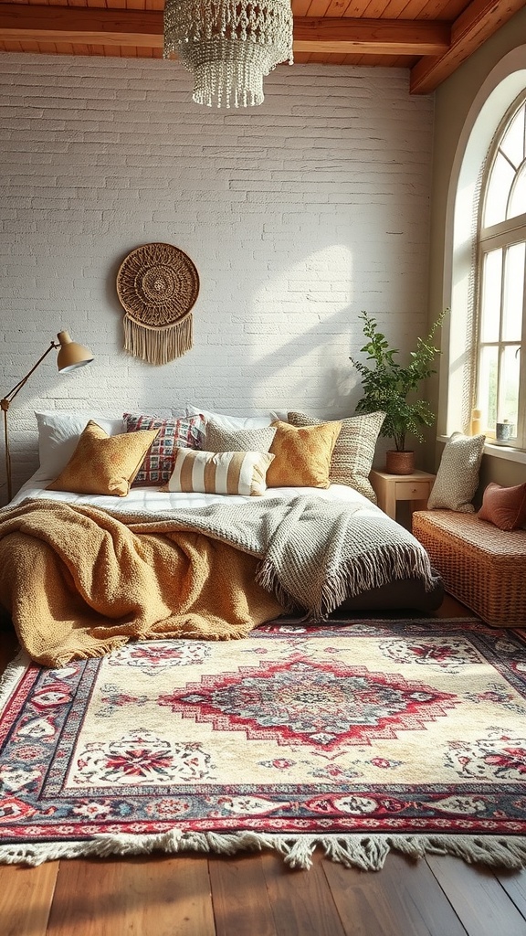
[[[77,447],[82,431],[90,419],[108,432],[125,432],[124,420],[94,416],[91,413],[57,413],[56,410],[35,413],[38,427],[38,478],[51,481],[60,475]]]

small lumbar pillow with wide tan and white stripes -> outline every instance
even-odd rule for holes
[[[175,467],[162,490],[258,497],[274,456],[269,452],[197,452],[178,448]]]

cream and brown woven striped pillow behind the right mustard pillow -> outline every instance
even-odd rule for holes
[[[330,460],[330,483],[346,484],[373,501],[373,504],[376,504],[376,494],[369,475],[373,467],[376,440],[385,418],[385,413],[363,413],[342,419],[342,430]],[[318,426],[323,420],[305,416],[304,413],[289,413],[288,421],[293,426]]]

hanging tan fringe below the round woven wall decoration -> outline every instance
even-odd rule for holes
[[[168,364],[170,360],[182,358],[193,344],[192,314],[162,329],[140,325],[129,315],[124,315],[124,350],[150,364]]]

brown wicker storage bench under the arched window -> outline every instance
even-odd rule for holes
[[[475,514],[418,510],[413,534],[446,592],[494,627],[526,626],[526,530],[508,533]]]

